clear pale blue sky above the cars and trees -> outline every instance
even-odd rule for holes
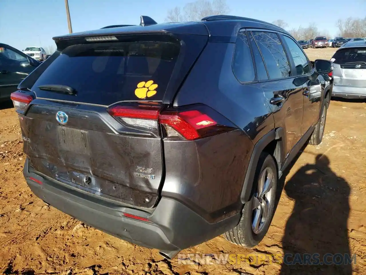
[[[139,24],[140,15],[164,22],[167,11],[192,0],[69,0],[73,32],[115,24]],[[339,18],[365,17],[365,0],[227,0],[229,14],[267,22],[283,19],[292,27],[316,23],[318,30],[337,34]],[[52,37],[68,33],[64,0],[0,0],[0,42],[20,50],[55,45]]]

